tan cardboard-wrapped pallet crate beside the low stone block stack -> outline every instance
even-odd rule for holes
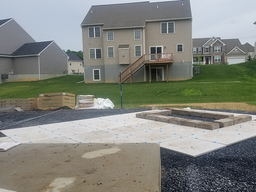
[[[64,106],[75,109],[75,94],[63,92],[39,94],[39,109],[49,110]]]

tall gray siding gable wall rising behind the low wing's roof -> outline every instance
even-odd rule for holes
[[[35,43],[14,20],[0,27],[0,53],[11,54],[24,43]]]

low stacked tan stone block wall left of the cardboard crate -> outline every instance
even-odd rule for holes
[[[2,99],[0,100],[0,107],[19,107],[22,110],[30,110],[30,99]]]

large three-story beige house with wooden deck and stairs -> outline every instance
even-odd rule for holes
[[[81,27],[85,83],[192,78],[189,0],[91,6]]]

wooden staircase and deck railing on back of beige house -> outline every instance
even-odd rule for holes
[[[172,53],[157,53],[157,54],[144,54],[137,61],[131,64],[127,69],[125,69],[118,76],[118,82],[124,82],[128,78],[132,77],[140,68],[142,68],[146,63],[162,63],[162,62],[172,62]]]

